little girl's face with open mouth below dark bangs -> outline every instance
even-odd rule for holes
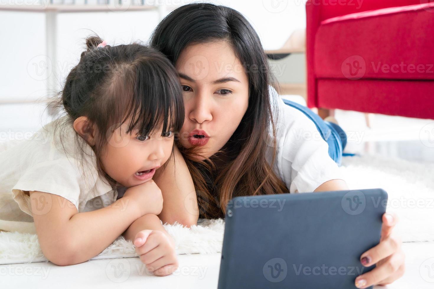
[[[105,172],[117,182],[129,188],[152,179],[155,169],[168,160],[173,148],[173,129],[161,136],[163,125],[148,136],[141,136],[138,130],[126,133],[129,123],[113,131],[108,143],[102,149],[101,161]],[[138,172],[148,171],[142,175]]]

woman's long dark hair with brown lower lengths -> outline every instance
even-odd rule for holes
[[[249,80],[249,106],[225,146],[230,161],[223,168],[216,171],[212,162],[219,153],[197,162],[197,155],[177,142],[194,181],[201,218],[223,217],[235,196],[288,192],[266,161],[267,143],[274,144],[271,164],[276,157],[276,120],[269,94],[272,76],[260,39],[247,19],[226,6],[184,5],[158,24],[150,44],[176,64],[188,45],[211,41],[228,42],[243,65]],[[214,178],[210,185],[209,176]]]

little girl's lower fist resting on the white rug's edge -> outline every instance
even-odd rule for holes
[[[143,230],[134,240],[136,253],[155,276],[166,276],[178,269],[175,242],[167,234],[158,230]]]

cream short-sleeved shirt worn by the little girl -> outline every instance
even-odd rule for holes
[[[0,230],[36,234],[26,191],[59,195],[71,201],[79,213],[116,201],[117,190],[97,174],[92,148],[79,137],[86,152],[86,162],[82,162],[75,157],[73,127],[53,131],[63,118],[46,124],[30,140],[0,143]],[[66,151],[59,142],[60,131]],[[41,205],[44,202],[39,201]]]

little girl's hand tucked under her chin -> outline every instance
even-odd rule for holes
[[[163,195],[153,179],[141,185],[130,187],[122,198],[132,199],[140,216],[145,214],[158,215],[163,209]]]

